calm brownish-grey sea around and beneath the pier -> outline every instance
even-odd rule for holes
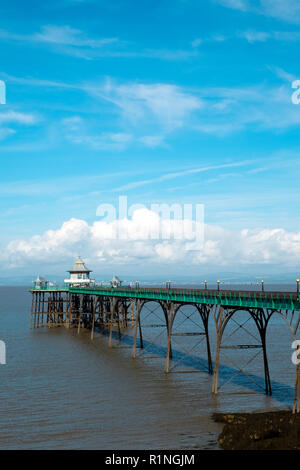
[[[1,449],[217,449],[222,428],[212,421],[213,412],[292,404],[291,336],[279,316],[267,336],[273,396],[263,392],[260,350],[224,349],[221,390],[213,397],[201,335],[174,336],[172,371],[164,373],[165,329],[147,327],[162,323],[155,304],[148,304],[142,319],[142,355],[132,360],[126,348],[131,330],[121,343],[115,338],[112,349],[101,332],[92,342],[85,330],[79,336],[64,327],[30,330],[30,303],[27,288],[0,288],[0,339],[7,348],[7,364],[0,365]],[[178,331],[200,331],[189,309],[178,315]],[[240,312],[234,318],[226,344],[257,344],[249,316]],[[210,332],[214,358],[212,319]],[[244,365],[247,375],[237,374]]]

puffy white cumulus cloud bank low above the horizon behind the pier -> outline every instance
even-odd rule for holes
[[[187,251],[187,240],[149,239],[149,230],[157,223],[164,224],[171,233],[180,233],[183,222],[160,219],[148,209],[134,212],[132,219],[96,221],[88,225],[84,220],[70,219],[57,230],[49,230],[29,240],[10,242],[1,253],[2,263],[10,267],[35,266],[43,263],[44,270],[51,264],[72,259],[78,252],[85,253],[95,268],[105,263],[109,266],[174,265],[178,262],[190,268],[250,266],[255,264],[296,267],[300,262],[300,232],[284,229],[257,229],[229,231],[222,227],[206,225],[205,242],[199,251]],[[128,239],[114,235],[127,231]],[[192,242],[197,246],[196,242]],[[93,267],[94,267],[93,266]]]

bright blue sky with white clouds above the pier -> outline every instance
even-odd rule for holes
[[[178,263],[193,276],[220,264],[299,275],[299,24],[296,0],[0,0],[11,275],[56,273],[79,250],[97,272],[128,276]],[[204,253],[101,248],[96,209],[120,195],[204,204]]]

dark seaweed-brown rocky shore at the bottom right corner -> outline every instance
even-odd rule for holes
[[[300,450],[300,413],[215,413],[224,423],[218,438],[224,450]]]

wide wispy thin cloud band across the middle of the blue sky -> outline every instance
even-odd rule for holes
[[[65,136],[74,143],[86,144],[95,149],[123,150],[134,143],[148,147],[165,146],[181,128],[224,137],[244,129],[277,132],[298,126],[299,107],[291,102],[292,76],[278,67],[268,68],[287,83],[277,86],[265,82],[239,88],[220,86],[186,89],[161,83],[118,84],[111,79],[102,84],[85,85],[36,82],[30,79],[27,82],[15,77],[10,79],[35,86],[72,88],[88,93],[94,100],[98,98],[98,106],[105,103],[111,113],[117,114],[114,131],[104,132],[95,119],[91,122],[75,116],[63,121]],[[97,102],[94,101],[94,104]],[[8,119],[17,119],[16,113],[2,116],[7,122]],[[34,116],[28,116],[23,121],[34,119]]]

